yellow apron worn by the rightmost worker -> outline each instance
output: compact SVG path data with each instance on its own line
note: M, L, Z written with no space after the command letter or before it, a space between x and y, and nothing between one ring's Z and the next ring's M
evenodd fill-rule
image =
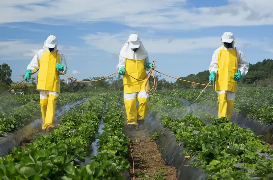
M230 91L237 92L237 82L233 80L236 73L236 65L238 53L236 48L233 50L220 50L218 54L218 71L215 81L216 91Z

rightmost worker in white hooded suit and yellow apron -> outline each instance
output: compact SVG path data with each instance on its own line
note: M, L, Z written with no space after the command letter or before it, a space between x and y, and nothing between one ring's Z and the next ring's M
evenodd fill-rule
M249 63L241 50L234 46L233 33L225 32L221 41L223 46L214 51L209 66L209 81L215 82L218 94L218 118L226 117L231 121L237 92L237 81L248 72Z

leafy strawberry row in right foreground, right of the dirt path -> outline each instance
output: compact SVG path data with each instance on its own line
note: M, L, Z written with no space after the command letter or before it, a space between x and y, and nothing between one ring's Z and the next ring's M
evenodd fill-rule
M161 111L159 107L165 99L169 106L179 107ZM187 148L185 158L197 157L191 165L207 172L207 179L271 179L273 150L251 130L230 123L226 118L214 118L202 110L196 112L202 118L186 114L182 104L172 103L158 94L150 100L149 107L155 110L154 115L173 131L176 141Z

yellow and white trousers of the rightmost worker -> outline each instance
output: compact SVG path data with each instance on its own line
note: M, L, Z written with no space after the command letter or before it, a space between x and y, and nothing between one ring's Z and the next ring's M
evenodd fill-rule
M235 93L230 91L218 91L218 118L226 117L231 121Z

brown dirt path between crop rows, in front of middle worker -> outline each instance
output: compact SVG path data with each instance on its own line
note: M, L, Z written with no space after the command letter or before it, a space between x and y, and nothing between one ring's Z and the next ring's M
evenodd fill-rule
M175 180L176 169L166 166L155 142L145 130L126 131L130 136L134 157L135 179L137 180ZM130 177L133 179L132 158L130 158Z

